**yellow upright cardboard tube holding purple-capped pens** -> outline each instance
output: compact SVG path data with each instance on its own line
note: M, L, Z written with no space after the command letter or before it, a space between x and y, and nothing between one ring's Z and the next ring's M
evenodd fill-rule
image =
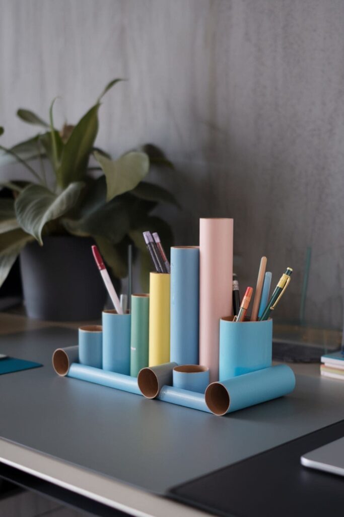
M170 360L170 277L150 273L149 366Z

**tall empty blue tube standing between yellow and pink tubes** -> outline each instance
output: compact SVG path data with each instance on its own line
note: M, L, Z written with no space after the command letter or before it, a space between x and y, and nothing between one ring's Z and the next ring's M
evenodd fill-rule
M199 362L200 250L171 248L170 361Z

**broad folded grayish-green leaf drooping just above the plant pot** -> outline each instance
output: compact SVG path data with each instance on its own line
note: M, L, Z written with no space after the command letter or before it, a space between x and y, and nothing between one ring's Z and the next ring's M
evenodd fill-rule
M84 183L71 183L59 195L43 185L29 185L14 203L15 214L22 229L33 235L42 245L42 229L46 222L56 219L76 203Z

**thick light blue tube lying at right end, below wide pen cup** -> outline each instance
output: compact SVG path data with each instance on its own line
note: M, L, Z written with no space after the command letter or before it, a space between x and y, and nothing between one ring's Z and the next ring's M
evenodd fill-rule
M283 397L295 387L295 376L286 364L246 373L209 384L205 402L212 413L221 416L238 409Z

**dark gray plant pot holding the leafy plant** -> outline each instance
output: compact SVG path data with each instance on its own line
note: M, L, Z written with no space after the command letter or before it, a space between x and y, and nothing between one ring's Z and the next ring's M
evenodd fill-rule
M101 317L106 300L102 277L93 260L92 239L49 236L32 242L20 255L27 314L53 321Z

